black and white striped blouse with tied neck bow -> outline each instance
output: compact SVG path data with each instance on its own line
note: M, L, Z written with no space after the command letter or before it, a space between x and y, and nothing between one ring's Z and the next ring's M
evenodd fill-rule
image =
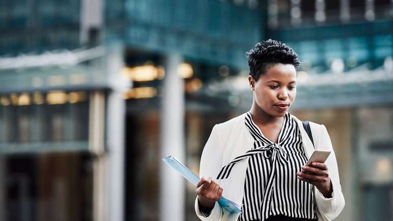
M237 162L248 158L239 220L263 221L276 215L315 219L312 185L296 175L307 162L296 121L288 112L284 115L278 143L261 133L250 112L246 115L245 127L254 139L253 146L224 166L217 176L217 179L228 177Z

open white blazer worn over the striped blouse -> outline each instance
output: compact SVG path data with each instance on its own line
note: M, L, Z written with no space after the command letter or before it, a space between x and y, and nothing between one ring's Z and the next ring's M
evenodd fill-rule
M247 170L247 161L240 161L233 167L227 179L216 180L216 176L223 166L232 161L235 157L250 150L254 142L251 135L246 130L244 120L246 113L216 124L202 152L200 177L212 177L222 188L222 195L239 205L242 204L244 194L244 180ZM292 115L292 117L294 117ZM314 146L303 128L302 121L294 117L297 121L302 136L303 147L309 158L314 151ZM318 220L332 220L343 210L345 205L344 196L341 192L339 172L337 168L336 155L328 131L322 124L310 122L310 129L315 144L315 149L332 151L325 164L329 170L329 177L333 185L332 198L325 198L314 186L314 197ZM198 197L195 199L195 212L201 220L209 221L236 221L240 214L229 213L222 209L216 202L208 217L202 215L198 206Z

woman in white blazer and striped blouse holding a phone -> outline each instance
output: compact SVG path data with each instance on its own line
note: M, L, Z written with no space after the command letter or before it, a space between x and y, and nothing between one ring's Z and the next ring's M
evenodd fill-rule
M336 218L345 201L329 134L310 122L312 143L302 121L288 112L296 97L298 55L274 40L247 55L251 110L213 127L201 157L196 214L230 221ZM331 154L325 163L304 166L314 149ZM242 205L242 213L222 209L222 195Z

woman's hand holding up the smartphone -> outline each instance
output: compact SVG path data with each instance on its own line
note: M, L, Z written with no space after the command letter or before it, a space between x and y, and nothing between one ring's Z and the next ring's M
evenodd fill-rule
M297 172L296 175L298 179L317 187L324 197L332 197L333 186L325 164L314 162L310 166L302 166L302 172Z

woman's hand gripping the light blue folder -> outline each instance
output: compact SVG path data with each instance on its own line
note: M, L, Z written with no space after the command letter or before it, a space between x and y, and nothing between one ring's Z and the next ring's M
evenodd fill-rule
M215 202L222 196L222 188L211 177L202 177L196 184L195 193L199 204L206 210L212 210Z

